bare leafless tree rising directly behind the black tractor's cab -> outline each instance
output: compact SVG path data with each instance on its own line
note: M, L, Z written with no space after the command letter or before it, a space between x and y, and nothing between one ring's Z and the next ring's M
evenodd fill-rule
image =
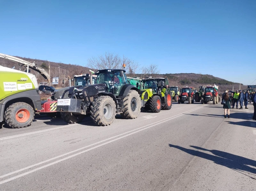
M118 54L105 52L104 55L88 59L88 67L92 69L121 69L121 58Z

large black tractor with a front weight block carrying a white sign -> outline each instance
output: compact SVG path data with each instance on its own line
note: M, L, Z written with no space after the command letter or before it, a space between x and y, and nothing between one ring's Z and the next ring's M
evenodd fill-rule
M125 70L98 70L95 74L96 84L71 87L58 99L57 111L62 119L76 123L90 114L94 123L105 126L114 121L116 113L125 119L137 118L141 108L140 90L128 84Z

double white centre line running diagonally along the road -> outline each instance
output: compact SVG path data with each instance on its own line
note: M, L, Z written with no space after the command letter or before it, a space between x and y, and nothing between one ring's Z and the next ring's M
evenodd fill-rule
M157 121L157 122L154 122L154 123L145 125L145 126L143 126L143 127L140 127L140 128L137 128L137 129L133 129L133 130L131 130L131 131L127 131L127 132L122 133L122 134L119 134L119 135L117 135L117 136L113 136L113 137L110 137L110 138L108 138L108 139L99 141L99 142L97 142L97 143L93 143L93 144L87 145L87 146L82 147L82 148L80 148L80 149L76 149L76 150L74 150L74 151L70 151L70 152L68 152L68 153L59 155L59 156L54 157L54 158L50 158L50 159L48 159L48 160L42 161L42 162L37 163L37 164L34 164L34 165L30 165L30 166L28 166L28 167L19 169L19 170L17 170L17 171L13 171L13 172L11 172L11 173L4 174L4 175L0 176L0 178L4 178L4 177L9 176L9 175L11 175L11 174L18 173L18 172L24 171L24 170L26 170L26 169L32 168L32 167L34 167L34 166L44 164L44 163L49 162L49 161L51 161L51 160L54 160L54 159L57 159L57 158L66 156L66 155L71 154L71 153L73 153L73 152L83 150L83 149L85 149L85 148L91 147L91 146L93 146L93 145L96 145L96 144L99 144L99 143L108 141L108 140L110 140L110 139L113 139L113 138L116 138L116 137L119 136L119 137L116 138L116 139L113 139L113 140L110 140L110 141L108 141L108 142L99 144L99 145L94 146L94 147L92 147L92 148L90 148L90 149L86 149L86 150L84 150L84 151L78 152L78 153L76 153L76 154L70 155L70 156L65 157L65 158L62 158L62 159L59 159L59 160L54 161L54 162L52 162L52 163L49 163L49 164L47 164L47 165L44 165L44 166L35 168L35 169L33 169L33 170L31 170L31 171L28 171L28 172L26 172L26 173L22 173L22 174L19 174L19 175L17 175L17 176L14 176L14 177L12 177L12 178L3 180L3 181L0 182L0 184L4 184L4 183L6 183L6 182L9 182L9 181L11 181L11 180L20 178L20 177L22 177L22 176L25 176L25 175L27 175L27 174L33 173L33 172L38 171L38 170L40 170L40 169L43 169L43 168L46 168L46 167L48 167L48 166L57 164L57 163L59 163L59 162L61 162L61 161L64 161L64 160L67 160L67 159L69 159L69 158L75 157L75 156L77 156L77 155L83 154L83 153L85 153L85 152L91 151L91 150L93 150L93 149L96 149L96 148L101 147L101 146L103 146L103 145L106 145L106 144L108 144L108 143L112 143L112 142L114 142L114 141L117 141L117 140L122 139L122 138L124 138L124 137L133 135L133 134L135 134L135 133L138 133L138 132L140 132L140 131L146 130L146 129L148 129L148 128L154 127L154 126L159 125L159 124L161 124L161 123L164 123L164 122L166 122L166 121L170 121L170 120L172 120L172 119L175 119L175 118L180 117L180 116L182 116L182 115L188 114L188 113L193 112L193 111L195 111L195 110L197 110L197 109L200 109L200 108L202 108L202 107L204 107L204 106L197 107L197 108L195 108L195 109L191 109L191 110L189 110L189 111L187 111L187 112L174 115L174 116L172 116L172 117L169 117L169 118L166 118L166 119L163 119L163 120L160 120L160 121ZM147 126L148 126L148 127L147 127ZM146 128L145 128L145 127L146 127ZM134 131L134 132L132 132L132 131ZM131 133L131 132L132 132L132 133ZM129 133L129 134L127 134L127 133ZM125 135L125 134L127 134L127 135ZM122 135L124 135L124 136L122 136ZM121 136L121 137L120 137L120 136Z

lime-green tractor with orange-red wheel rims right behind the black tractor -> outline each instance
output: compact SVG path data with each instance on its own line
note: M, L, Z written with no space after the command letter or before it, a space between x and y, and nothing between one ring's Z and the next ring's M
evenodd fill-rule
M154 113L172 108L172 92L168 78L142 79L143 89L140 91L142 107Z

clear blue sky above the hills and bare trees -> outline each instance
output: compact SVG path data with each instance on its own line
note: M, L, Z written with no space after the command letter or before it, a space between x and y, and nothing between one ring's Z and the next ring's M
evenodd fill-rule
M0 52L84 65L105 51L161 73L256 78L256 1L4 1ZM254 82L255 83L255 82Z

